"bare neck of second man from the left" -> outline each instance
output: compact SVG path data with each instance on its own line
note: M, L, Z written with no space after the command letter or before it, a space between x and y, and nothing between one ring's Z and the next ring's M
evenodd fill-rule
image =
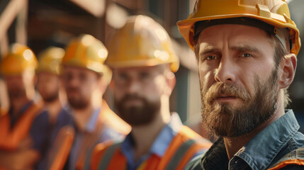
M62 103L60 102L60 99L57 98L54 101L44 101L45 108L47 108L47 112L50 116L50 123L54 124L57 120L57 115L60 113L62 109Z

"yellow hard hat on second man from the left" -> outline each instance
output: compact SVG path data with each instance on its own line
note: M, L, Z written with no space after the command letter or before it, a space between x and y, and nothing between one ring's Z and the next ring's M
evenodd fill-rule
M38 55L39 66L37 72L50 72L60 74L60 62L64 56L64 50L60 47L48 47Z

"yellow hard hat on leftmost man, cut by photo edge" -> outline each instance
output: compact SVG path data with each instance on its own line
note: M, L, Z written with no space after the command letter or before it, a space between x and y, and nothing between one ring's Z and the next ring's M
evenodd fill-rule
M27 69L35 70L37 65L35 53L29 47L14 43L1 60L0 70L2 75L19 75Z

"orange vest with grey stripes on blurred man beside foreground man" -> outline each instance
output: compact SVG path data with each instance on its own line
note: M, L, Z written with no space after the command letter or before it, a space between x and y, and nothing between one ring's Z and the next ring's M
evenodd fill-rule
M91 169L127 169L127 160L121 152L120 145L121 142L113 145L98 144L92 155ZM199 150L208 149L211 145L211 142L183 126L171 140L162 158L152 154L137 169L183 169Z

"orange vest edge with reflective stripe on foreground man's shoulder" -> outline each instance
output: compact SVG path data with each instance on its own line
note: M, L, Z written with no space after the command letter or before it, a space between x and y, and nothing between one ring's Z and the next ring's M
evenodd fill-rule
M298 149L289 152L284 157L282 157L276 164L271 166L268 170L276 170L281 169L287 165L300 165L303 166L304 169L304 148L300 147Z

